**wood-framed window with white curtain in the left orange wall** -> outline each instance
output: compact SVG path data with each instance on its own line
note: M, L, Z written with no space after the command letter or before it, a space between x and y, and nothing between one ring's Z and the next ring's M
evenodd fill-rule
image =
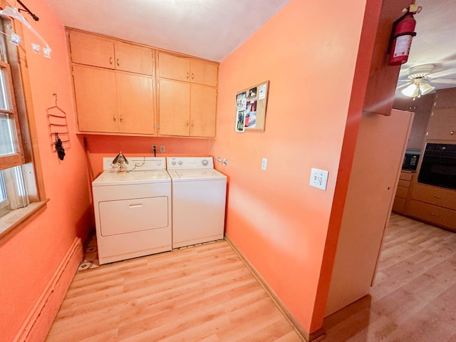
M34 124L26 110L28 105L33 109L28 103L28 71L26 63L19 63L26 61L26 53L9 42L14 31L23 36L23 28L13 25L0 19L0 244L46 207L42 180L36 177L33 163L38 151L30 143L36 133L28 130Z

